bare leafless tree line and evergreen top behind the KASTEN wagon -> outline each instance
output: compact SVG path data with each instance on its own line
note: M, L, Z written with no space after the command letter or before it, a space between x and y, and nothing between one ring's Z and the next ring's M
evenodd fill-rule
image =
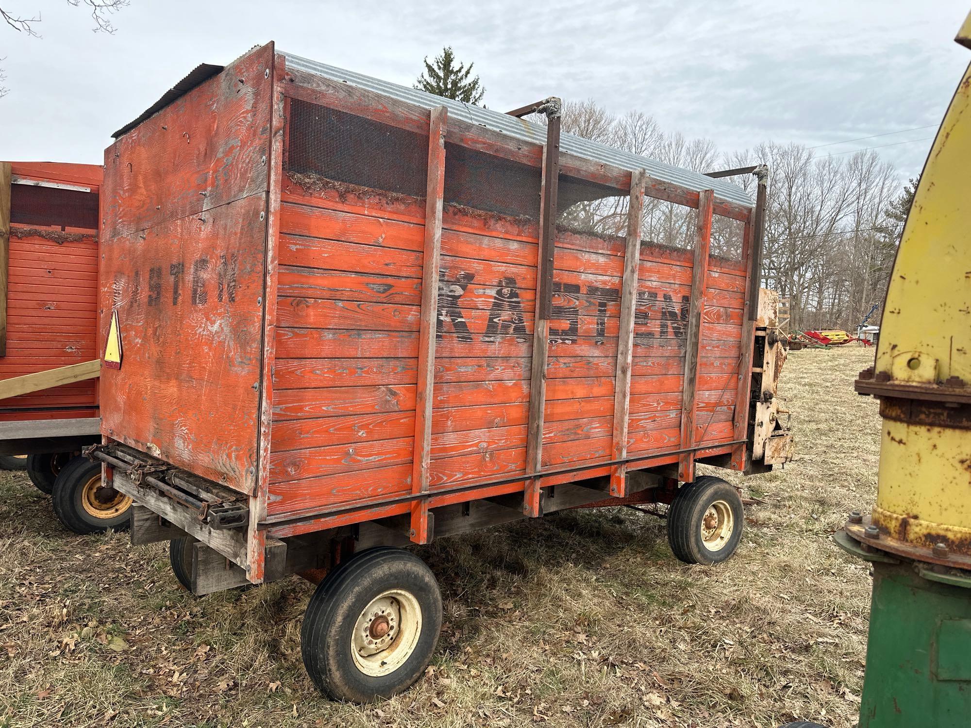
M429 63L416 87L467 103L481 103L485 88L472 77L472 64L455 60L451 48ZM664 132L653 116L609 113L593 101L566 101L562 129L594 142L643 154L696 172L766 164L768 204L761 284L788 299L790 329L855 326L870 314L879 323L884 294L916 181L903 185L897 170L872 150L849 156L819 154L797 144L767 142L722 153L707 139ZM545 122L544 116L535 120ZM752 177L729 178L754 195ZM600 192L602 194L602 191ZM595 195L591 195L595 197ZM622 235L627 200L622 194L571 204L557 223L575 229ZM694 211L648 199L642 229L661 245L691 247ZM715 254L741 254L742 226L717 217Z

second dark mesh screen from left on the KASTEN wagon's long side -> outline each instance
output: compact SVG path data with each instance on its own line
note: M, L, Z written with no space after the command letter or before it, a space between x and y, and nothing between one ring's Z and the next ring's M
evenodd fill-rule
M445 144L446 205L538 219L542 181L539 167Z

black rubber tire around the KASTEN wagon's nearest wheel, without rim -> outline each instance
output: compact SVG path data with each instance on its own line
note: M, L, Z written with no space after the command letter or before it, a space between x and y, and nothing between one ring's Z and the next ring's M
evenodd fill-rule
M409 591L419 603L421 630L415 650L385 676L366 675L352 657L357 617L385 590ZM304 614L300 649L318 690L334 699L368 703L411 687L431 661L442 630L442 593L418 556L382 546L354 554L323 579Z

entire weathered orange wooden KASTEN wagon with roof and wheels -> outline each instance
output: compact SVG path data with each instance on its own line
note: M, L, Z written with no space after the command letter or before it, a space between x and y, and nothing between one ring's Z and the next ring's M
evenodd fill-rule
M115 136L89 454L195 593L326 573L303 653L331 696L430 659L441 595L400 546L667 503L675 554L717 563L742 502L696 464L788 457L762 168L705 177L560 136L556 99L503 115L273 44ZM642 239L669 203L686 224Z

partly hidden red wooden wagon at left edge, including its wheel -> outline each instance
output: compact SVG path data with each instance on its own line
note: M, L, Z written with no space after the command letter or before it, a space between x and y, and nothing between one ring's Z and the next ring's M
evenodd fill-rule
M101 181L100 165L0 162L0 455L79 533L126 525L130 505L99 473L70 478L101 439Z

